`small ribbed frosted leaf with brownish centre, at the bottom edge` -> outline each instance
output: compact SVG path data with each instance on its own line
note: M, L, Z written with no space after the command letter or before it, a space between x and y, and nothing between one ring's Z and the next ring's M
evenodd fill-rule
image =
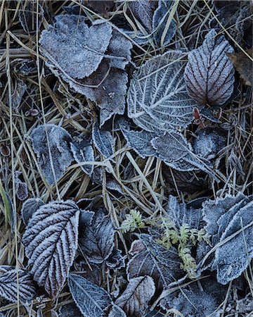
M131 278L123 294L115 304L121 307L127 316L143 316L148 302L155 294L155 283L150 276Z

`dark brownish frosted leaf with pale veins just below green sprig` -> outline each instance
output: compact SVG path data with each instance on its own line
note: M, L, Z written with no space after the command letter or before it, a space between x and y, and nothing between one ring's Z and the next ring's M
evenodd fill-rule
M154 247L156 243L151 239L150 235L138 235L138 248L134 257L129 261L127 273L129 278L150 275L159 288L167 288L171 282L174 282L181 275L181 261L174 247L167 249L166 254L164 248ZM136 245L136 242L133 242ZM131 247L133 249L133 245ZM165 259L164 265L159 259Z

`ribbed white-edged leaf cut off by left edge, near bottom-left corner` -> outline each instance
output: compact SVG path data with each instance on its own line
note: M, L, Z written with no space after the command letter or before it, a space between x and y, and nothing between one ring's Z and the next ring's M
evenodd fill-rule
M18 281L17 281L18 276ZM18 282L18 284L17 284ZM32 275L13 266L0 267L0 296L10 302L17 302L17 292L22 303L30 302L36 297L37 287Z

